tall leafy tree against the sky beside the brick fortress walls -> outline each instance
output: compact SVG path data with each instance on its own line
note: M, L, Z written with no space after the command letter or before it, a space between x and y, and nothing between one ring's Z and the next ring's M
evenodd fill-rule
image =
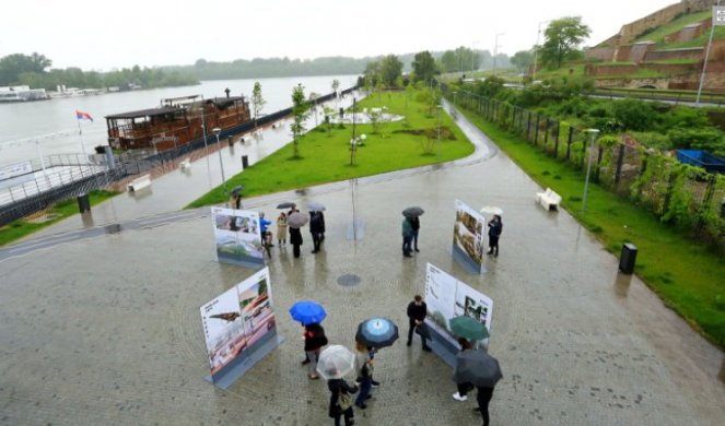
M543 63L561 68L562 62L578 51L578 45L592 31L582 23L582 16L565 16L551 21L543 32L546 42L539 50Z

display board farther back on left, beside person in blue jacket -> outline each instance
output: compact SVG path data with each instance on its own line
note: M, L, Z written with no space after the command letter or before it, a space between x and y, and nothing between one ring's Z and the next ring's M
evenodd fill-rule
M265 264L257 212L212 208L211 218L218 261L255 269Z

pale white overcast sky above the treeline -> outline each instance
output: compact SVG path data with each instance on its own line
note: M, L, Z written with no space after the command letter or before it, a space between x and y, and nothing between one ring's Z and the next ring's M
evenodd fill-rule
M323 56L361 58L458 46L513 55L539 22L582 16L596 45L678 0L12 0L0 57L34 51L83 70ZM542 24L541 27L546 27ZM542 40L543 38L541 38Z

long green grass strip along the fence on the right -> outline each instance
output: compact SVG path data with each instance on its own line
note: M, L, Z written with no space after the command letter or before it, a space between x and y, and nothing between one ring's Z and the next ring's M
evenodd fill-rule
M664 304L709 340L725 347L725 262L715 250L688 238L654 215L596 185L582 214L584 174L554 161L524 139L465 113L533 179L561 194L562 205L612 253L622 244L638 249L635 272Z

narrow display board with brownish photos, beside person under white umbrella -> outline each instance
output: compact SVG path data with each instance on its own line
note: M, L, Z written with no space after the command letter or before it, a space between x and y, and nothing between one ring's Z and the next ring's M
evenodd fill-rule
M483 270L486 218L460 200L456 200L453 225L453 257L471 272Z

